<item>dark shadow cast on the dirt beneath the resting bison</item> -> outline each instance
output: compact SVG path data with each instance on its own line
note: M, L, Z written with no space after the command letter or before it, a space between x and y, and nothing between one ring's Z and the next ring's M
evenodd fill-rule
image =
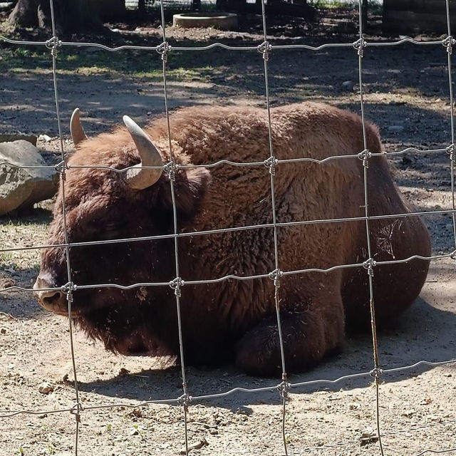
M442 296L443 297L443 296ZM446 299L442 299L442 301ZM447 361L454 357L456 315L452 311L431 306L418 299L412 308L388 328L378 331L378 354L383 369L381 380L395 383L430 370L432 366L415 366L389 373L389 369L412 366L417 361ZM316 390L360 388L373 381L373 343L369 333L349 333L343 351L326 358L316 368L302 374L289 375L291 393L311 393ZM362 374L355 378L346 375ZM257 378L237 371L232 366L217 368L186 368L187 388L193 403L206 403L231 410L250 412L249 404L280 403L279 378ZM336 380L318 383L316 380ZM108 380L81 383L81 390L113 398L135 401L173 400L182 395L180 366L152 369L118 375ZM246 388L246 390L236 388ZM232 393L224 394L234 390ZM257 390L255 392L248 390ZM214 395L214 398L199 396Z

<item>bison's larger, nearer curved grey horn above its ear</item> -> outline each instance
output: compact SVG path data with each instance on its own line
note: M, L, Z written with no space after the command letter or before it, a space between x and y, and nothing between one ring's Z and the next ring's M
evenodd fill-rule
M128 185L135 190L143 190L151 185L154 185L163 172L162 168L153 170L150 168L145 169L143 167L162 167L162 156L144 130L131 120L128 115L123 116L123 123L125 123L125 126L128 128L128 131L130 132L141 157L140 164L127 171Z

